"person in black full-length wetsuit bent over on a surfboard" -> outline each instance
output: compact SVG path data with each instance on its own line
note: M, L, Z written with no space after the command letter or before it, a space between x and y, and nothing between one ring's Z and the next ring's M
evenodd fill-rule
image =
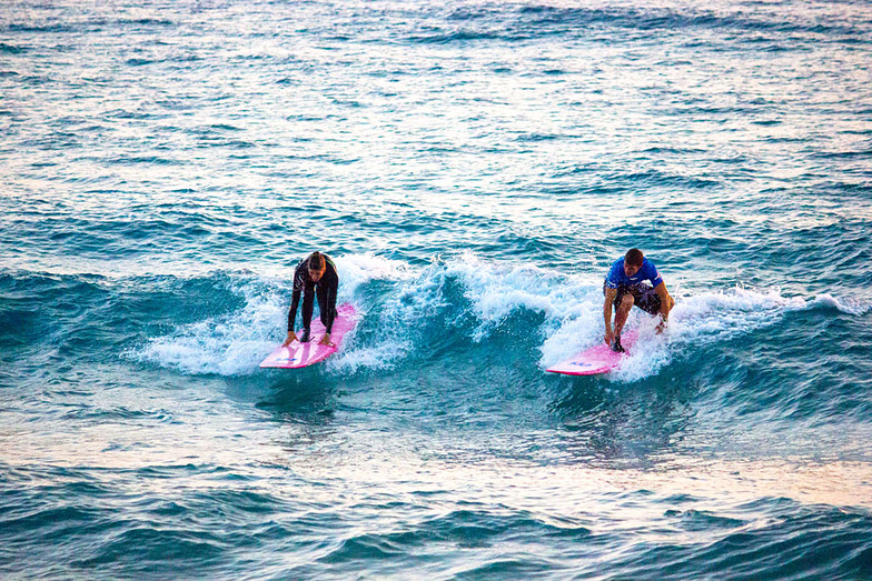
M318 310L320 311L321 322L327 332L321 338L321 344L330 344L330 331L333 321L336 319L336 293L339 290L339 277L336 274L336 264L330 257L320 252L313 252L308 258L300 260L294 271L294 293L290 298L290 311L288 312L288 338L284 345L287 347L291 341L298 340L301 343L308 342L310 338L311 312L314 299L318 298ZM297 320L297 305L299 304L300 293L303 293L303 332L297 338L294 332L294 323Z

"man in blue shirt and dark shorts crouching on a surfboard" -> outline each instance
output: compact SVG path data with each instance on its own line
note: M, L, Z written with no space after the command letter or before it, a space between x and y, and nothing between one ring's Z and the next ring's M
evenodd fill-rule
M661 317L657 332L663 331L670 317L670 311L675 305L675 300L670 297L663 278L657 268L646 259L642 251L634 248L617 259L608 269L605 283L605 342L613 351L623 352L621 347L621 331L624 330L630 310L635 304L643 311ZM612 308L615 308L615 327L612 328Z

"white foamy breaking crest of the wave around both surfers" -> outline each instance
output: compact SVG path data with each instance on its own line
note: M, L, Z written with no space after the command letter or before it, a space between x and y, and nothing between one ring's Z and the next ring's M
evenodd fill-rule
M603 293L598 277L565 276L524 263L484 261L458 254L415 269L358 254L338 257L340 301L364 314L343 350L325 369L355 373L389 370L409 357L462 343L485 347L499 337L538 338L538 365L547 368L602 341ZM290 269L285 269L289 277ZM276 276L280 271L276 270ZM592 280L593 278L593 280ZM284 337L290 301L285 278L238 280L231 291L241 308L155 337L127 354L192 374L250 374ZM726 291L676 293L666 332L657 320L634 310L628 328L641 331L636 350L608 377L637 381L660 372L675 358L706 345L770 328L792 311L836 309L860 315L870 304L823 293L785 297L777 289L735 287Z

